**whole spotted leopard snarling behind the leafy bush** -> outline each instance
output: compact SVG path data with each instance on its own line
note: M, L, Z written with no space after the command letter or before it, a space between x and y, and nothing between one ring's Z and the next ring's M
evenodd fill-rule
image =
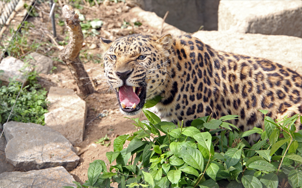
M158 95L150 111L176 125L232 114L239 118L231 123L245 132L263 128L259 109L273 119L302 113L302 76L264 58L215 50L188 34L101 38L101 49L104 74L125 115L140 113ZM298 120L295 125L302 129ZM253 143L259 135L247 139Z

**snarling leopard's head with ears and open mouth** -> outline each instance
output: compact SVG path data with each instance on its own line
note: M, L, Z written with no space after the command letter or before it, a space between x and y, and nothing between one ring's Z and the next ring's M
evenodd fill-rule
M101 39L105 76L124 114L138 114L146 100L164 91L172 42L169 34Z

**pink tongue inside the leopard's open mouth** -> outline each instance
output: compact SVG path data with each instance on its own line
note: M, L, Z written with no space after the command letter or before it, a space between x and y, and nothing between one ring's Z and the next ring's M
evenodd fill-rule
M126 107L136 105L140 102L139 96L133 92L132 86L122 86L118 92L119 101Z

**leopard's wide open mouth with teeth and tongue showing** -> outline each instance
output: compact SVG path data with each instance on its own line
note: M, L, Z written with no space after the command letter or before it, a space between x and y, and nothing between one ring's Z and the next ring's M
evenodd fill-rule
M144 87L124 85L116 88L115 91L119 106L124 112L136 112L143 108L146 100L146 89Z

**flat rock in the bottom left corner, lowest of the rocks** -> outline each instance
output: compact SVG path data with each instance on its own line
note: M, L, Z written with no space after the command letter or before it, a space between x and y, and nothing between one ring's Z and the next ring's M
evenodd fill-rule
M63 167L28 172L4 172L0 174L0 188L62 188L76 187L73 177Z

